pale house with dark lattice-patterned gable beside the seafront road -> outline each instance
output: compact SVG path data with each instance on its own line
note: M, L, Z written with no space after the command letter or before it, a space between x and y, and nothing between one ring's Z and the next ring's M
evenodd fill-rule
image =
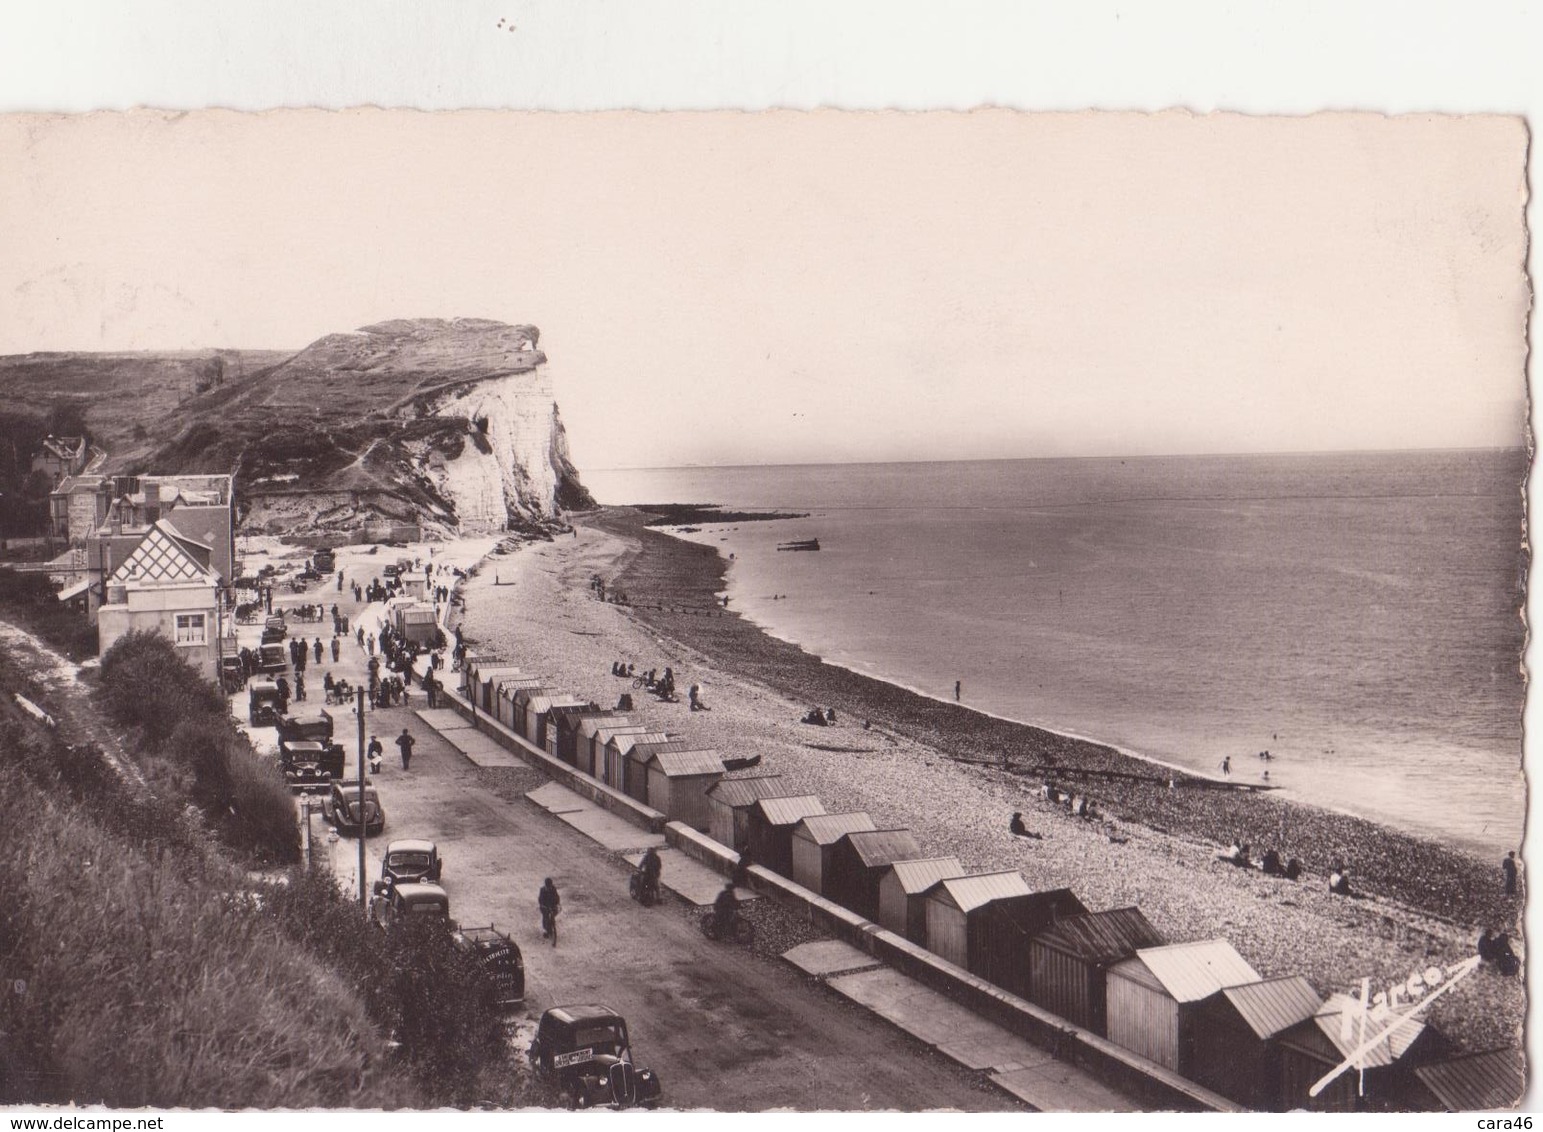
M219 675L219 574L213 547L157 520L106 577L97 631L106 652L123 635L159 632L194 669Z

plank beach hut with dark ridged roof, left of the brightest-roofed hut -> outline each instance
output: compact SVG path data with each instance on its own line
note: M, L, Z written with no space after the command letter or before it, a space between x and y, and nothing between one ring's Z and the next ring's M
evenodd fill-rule
M1108 1035L1103 990L1109 967L1165 942L1140 908L1062 919L1029 941L1026 998L1085 1030Z

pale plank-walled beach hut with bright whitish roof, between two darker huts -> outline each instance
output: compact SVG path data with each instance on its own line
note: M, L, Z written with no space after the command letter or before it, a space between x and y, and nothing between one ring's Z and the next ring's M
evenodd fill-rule
M1258 981L1225 939L1143 947L1109 967L1109 1041L1185 1073L1197 1006L1224 987Z

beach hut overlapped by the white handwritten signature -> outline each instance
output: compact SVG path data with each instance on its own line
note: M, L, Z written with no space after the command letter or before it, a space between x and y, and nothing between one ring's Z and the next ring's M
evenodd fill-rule
M1276 1038L1282 1107L1312 1112L1401 1112L1429 1103L1423 1101L1429 1093L1415 1070L1446 1056L1450 1049L1435 1029L1415 1019L1400 1023L1366 1052L1364 1095L1359 1092L1362 1073L1350 1069L1330 1081L1318 1097L1308 1097L1316 1081L1344 1064L1362 1044L1356 1036L1359 1015L1355 998L1335 993L1316 1015ZM1383 1024L1375 1026L1381 1029Z

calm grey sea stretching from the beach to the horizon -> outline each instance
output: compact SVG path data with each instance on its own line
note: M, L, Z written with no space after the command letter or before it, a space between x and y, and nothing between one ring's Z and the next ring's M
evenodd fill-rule
M585 483L807 512L674 532L730 560L731 608L827 663L1497 856L1526 817L1526 472L1506 449Z

